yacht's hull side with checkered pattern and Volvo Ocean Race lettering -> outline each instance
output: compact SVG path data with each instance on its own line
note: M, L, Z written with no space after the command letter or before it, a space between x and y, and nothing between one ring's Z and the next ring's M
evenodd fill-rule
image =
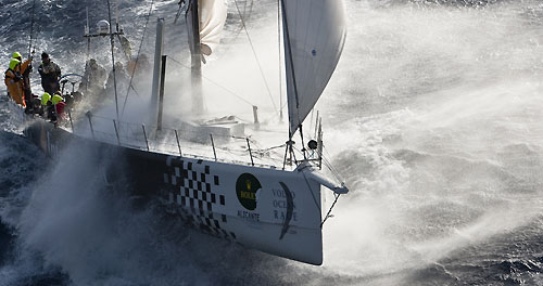
M293 171L173 156L93 141L33 120L25 134L52 157L63 145L117 150L135 193L159 197L166 211L202 232L305 263L323 263L321 194L311 167Z

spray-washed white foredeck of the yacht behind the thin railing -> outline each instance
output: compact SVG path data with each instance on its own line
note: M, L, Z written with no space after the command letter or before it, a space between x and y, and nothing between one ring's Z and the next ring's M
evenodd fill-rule
M260 128L242 122L197 125L177 122L177 128L117 121L97 115L60 128L75 135L135 150L223 162L282 169L286 140L279 128ZM241 131L240 131L241 129ZM264 144L262 142L266 142ZM293 169L286 166L286 169Z

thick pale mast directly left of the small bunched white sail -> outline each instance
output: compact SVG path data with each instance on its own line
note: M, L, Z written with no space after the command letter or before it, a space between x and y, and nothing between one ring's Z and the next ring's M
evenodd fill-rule
M198 0L191 0L190 8L192 21L192 49L191 51L191 83L192 83L192 112L197 115L203 113L202 96L202 51L200 42L200 16Z

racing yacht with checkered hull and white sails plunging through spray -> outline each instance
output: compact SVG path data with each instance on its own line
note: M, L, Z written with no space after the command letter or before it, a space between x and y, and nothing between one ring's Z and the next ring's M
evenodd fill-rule
M344 6L342 0L280 0L280 8L289 117L282 166L256 161L249 139L243 156L251 162L217 157L218 138L241 138L245 143L239 122L162 126L166 57L162 54L164 23L160 21L152 87L156 126L123 122L117 105L116 118L86 113L80 118L71 116L65 127L33 120L24 133L52 157L68 142L96 145L102 156L115 154L123 159L123 172L135 193L157 197L166 211L189 225L249 248L320 265L323 223L329 217L321 203L321 186L329 188L336 199L348 188L320 172L320 127L315 139L310 140L304 138L303 125L340 58L346 35ZM187 0L184 9L189 27L192 104L193 109L203 112L198 94L202 60L219 42L226 6L224 0ZM114 34L111 27L108 35L112 43ZM211 145L205 154L187 152L201 143Z

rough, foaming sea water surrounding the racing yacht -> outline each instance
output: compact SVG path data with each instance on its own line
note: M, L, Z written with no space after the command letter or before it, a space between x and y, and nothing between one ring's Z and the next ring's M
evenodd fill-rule
M274 23L274 2L263 3L248 21L255 39ZM136 43L148 4L119 3ZM27 49L17 28L28 26L31 1L2 5L9 58ZM81 73L85 8L99 18L105 6L39 5L38 50ZM543 285L543 5L348 0L346 8L343 56L317 109L325 154L351 192L325 224L323 266L186 230L105 183L100 168L112 159L92 151L68 148L51 162L10 123L3 98L0 285ZM173 22L176 9L161 2L154 17ZM227 25L232 44L243 37L237 25ZM166 50L182 57L172 47L186 47L185 31L167 32ZM108 53L93 56L105 63ZM276 74L266 72L270 81Z

